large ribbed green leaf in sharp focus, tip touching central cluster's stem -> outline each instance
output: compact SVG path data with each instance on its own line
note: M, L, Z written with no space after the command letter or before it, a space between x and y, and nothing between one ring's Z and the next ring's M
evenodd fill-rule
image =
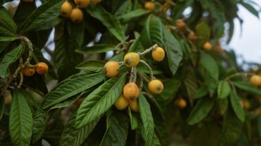
M87 125L109 110L122 94L125 82L126 73L112 77L97 89L93 90L80 105L75 126L80 128Z

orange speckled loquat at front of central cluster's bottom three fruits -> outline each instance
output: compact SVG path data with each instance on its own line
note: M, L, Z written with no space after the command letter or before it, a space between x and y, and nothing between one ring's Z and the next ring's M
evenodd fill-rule
M126 99L137 99L139 97L139 87L135 83L129 82L124 86L123 94Z

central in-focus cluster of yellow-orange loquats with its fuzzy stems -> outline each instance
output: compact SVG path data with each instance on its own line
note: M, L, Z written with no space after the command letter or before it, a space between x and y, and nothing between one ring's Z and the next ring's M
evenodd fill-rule
M135 83L136 79L133 78L133 76L137 76L136 66L139 63L145 64L150 69L150 81L148 81L148 90L150 90L150 93L160 94L162 92L162 82L155 79L150 66L144 60L141 60L141 58L143 58L144 55L150 51L152 51L152 58L157 62L161 62L165 57L164 49L157 47L157 45L150 47L150 49L147 49L143 53L129 52L124 56L124 61L122 63L124 63L126 67L131 68L131 77L130 81L123 88L123 94L120 95L114 104L118 110L124 110L127 106L129 106L131 110L139 112L137 98L139 97L139 88L142 88L142 85L137 86ZM120 71L118 70L120 68L120 63L121 62L115 61L106 62L104 65L104 72L106 73L106 76L115 77L119 75Z

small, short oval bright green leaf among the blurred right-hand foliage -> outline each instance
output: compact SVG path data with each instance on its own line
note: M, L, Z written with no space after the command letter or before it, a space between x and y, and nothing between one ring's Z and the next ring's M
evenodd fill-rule
M230 94L231 88L227 81L220 81L218 84L218 98L225 99Z

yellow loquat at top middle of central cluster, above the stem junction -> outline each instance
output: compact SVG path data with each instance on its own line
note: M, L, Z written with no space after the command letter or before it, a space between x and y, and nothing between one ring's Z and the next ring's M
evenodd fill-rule
M123 61L124 61L124 64L127 67L137 66L137 64L139 64L139 54L134 53L134 52L127 53L124 56L124 60Z

